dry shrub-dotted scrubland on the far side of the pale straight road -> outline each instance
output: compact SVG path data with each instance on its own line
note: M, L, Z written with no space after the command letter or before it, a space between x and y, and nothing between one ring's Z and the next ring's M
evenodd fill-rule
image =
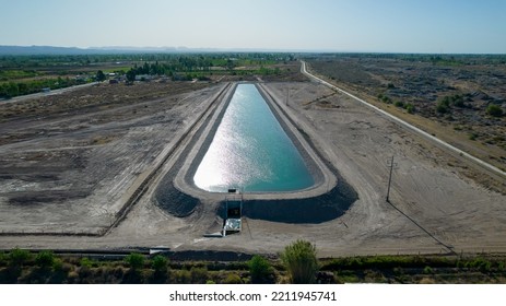
M310 60L310 67L374 105L506 170L504 57L343 55ZM490 108L502 109L503 116L492 116ZM461 167L459 172L467 170ZM474 169L467 176L496 191L506 190L504 184Z

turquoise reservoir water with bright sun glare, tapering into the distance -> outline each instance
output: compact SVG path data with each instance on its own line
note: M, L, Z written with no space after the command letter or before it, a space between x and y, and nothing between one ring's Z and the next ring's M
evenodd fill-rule
M239 84L193 181L226 192L283 192L311 187L304 158L254 84Z

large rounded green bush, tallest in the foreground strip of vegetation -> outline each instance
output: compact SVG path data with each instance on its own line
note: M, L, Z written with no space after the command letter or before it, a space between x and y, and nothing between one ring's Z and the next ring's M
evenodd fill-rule
M316 247L309 242L297 239L286 246L281 254L281 260L294 284L310 284L315 282L318 271Z

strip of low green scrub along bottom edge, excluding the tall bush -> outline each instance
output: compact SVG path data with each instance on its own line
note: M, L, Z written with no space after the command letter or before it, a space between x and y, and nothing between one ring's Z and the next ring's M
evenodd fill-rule
M317 283L506 283L496 256L369 256L320 259ZM252 281L254 280L254 281ZM130 254L106 260L12 249L0 252L0 283L290 283L280 259L179 261Z

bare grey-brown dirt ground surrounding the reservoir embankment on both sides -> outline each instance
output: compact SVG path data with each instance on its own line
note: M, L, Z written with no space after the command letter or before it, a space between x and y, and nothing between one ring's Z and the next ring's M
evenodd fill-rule
M202 199L189 216L176 217L158 208L153 195L188 142L175 144L185 132L193 134L193 123L203 123L199 116L224 87L215 84L111 109L2 123L2 136L30 137L0 146L0 248L164 246L276 254L303 238L316 244L321 257L506 251L506 196L452 167L466 161L310 82L264 87L356 190L358 200L332 221L293 224L246 217L240 234L204 237L221 222L211 199ZM102 233L121 210L126 195L172 148L175 151L148 190L106 235L22 235Z

